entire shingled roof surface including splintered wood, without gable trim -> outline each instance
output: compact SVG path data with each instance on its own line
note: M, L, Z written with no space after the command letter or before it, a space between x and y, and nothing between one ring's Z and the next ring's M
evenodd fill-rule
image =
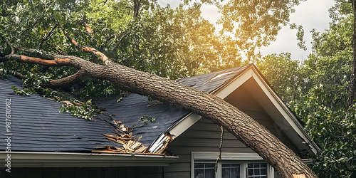
M246 67L182 78L177 82L211 93ZM0 83L0 100L11 99L11 133L14 135L11 151L14 152L164 155L173 140L169 127L190 113L132 93L118 103L118 98L95 100L95 105L108 112L90 121L58 112L62 103L54 100L38 95L15 95L11 86L21 89L22 81L18 78L0 78ZM0 103L1 117L5 117L4 108L5 103ZM140 120L142 117L152 117L155 121L145 123ZM0 127L0 132L4 135L6 127ZM6 148L5 143L0 142L0 146Z

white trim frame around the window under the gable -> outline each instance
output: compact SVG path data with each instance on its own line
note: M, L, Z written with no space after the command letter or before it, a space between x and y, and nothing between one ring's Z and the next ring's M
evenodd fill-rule
M192 152L191 177L194 178L194 163L215 163L219 153L217 152ZM216 178L221 178L221 163L241 164L241 178L247 177L246 168L249 163L266 163L257 153L230 153L222 152L221 161L218 163L219 169ZM267 177L274 178L274 169L267 163Z

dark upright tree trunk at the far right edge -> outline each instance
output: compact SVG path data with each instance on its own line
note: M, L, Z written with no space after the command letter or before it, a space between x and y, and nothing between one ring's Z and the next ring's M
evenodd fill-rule
M354 13L354 28L352 35L352 47L353 47L353 62L352 62L352 73L350 77L350 84L348 90L348 98L346 102L346 107L349 108L356 100L356 2L355 0L350 0L352 4L352 9Z

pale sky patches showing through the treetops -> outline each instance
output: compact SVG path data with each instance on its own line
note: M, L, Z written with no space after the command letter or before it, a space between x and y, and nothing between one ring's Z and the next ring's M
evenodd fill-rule
M177 0L159 0L161 6L171 4L171 7L176 7L181 1ZM304 61L311 53L311 33L313 28L316 31L323 32L329 28L331 21L329 17L329 9L335 4L333 0L308 0L301 1L299 6L295 6L295 13L290 14L290 23L296 23L304 27L304 40L307 51L300 49L297 46L296 30L290 30L288 26L283 26L281 31L276 36L276 41L272 41L269 46L262 47L260 52L263 56L272 53L291 53L293 60ZM201 6L201 16L216 24L220 14L214 5ZM216 26L219 28L219 26Z

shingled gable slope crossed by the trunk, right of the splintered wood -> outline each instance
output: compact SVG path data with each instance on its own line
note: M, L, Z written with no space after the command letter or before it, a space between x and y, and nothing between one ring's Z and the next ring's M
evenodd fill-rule
M225 83L229 83L236 75L239 75L248 66L221 70L204 75L196 75L190 78L176 80L184 85L197 88L206 93L211 93L216 88ZM223 74L223 75L221 75ZM157 100L149 100L146 96L131 93L117 103L118 98L111 100L96 100L95 104L106 108L110 114L113 114L115 120L120 120L127 127L133 127L132 133L136 137L141 137L140 142L145 145L152 143L167 131L175 122L181 120L190 113L189 110L178 108L174 105L161 103ZM155 122L148 122L147 125L140 122L143 116L155 118Z

